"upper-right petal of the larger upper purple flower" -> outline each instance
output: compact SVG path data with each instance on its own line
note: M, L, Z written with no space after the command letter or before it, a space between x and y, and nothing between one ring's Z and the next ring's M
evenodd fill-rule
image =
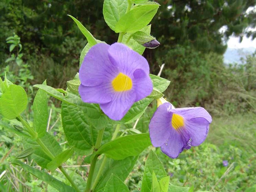
M131 77L136 69L142 69L149 74L147 60L124 44L114 43L108 51L111 63L123 74Z

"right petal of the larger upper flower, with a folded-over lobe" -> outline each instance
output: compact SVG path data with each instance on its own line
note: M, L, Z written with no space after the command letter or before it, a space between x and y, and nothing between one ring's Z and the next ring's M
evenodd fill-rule
M136 90L136 102L150 95L153 90L153 83L151 78L142 69L136 69L133 72L133 77L133 89Z

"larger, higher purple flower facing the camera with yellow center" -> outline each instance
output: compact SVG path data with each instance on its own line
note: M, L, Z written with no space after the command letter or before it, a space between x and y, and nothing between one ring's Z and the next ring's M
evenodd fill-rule
M116 121L153 90L147 60L121 43L91 47L79 78L82 100L99 103L102 111Z

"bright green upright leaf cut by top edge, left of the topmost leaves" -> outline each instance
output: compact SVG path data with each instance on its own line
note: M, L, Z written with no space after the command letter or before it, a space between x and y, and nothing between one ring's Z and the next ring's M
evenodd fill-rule
M124 0L104 0L103 16L110 29L115 31L115 25L126 13L128 1Z

